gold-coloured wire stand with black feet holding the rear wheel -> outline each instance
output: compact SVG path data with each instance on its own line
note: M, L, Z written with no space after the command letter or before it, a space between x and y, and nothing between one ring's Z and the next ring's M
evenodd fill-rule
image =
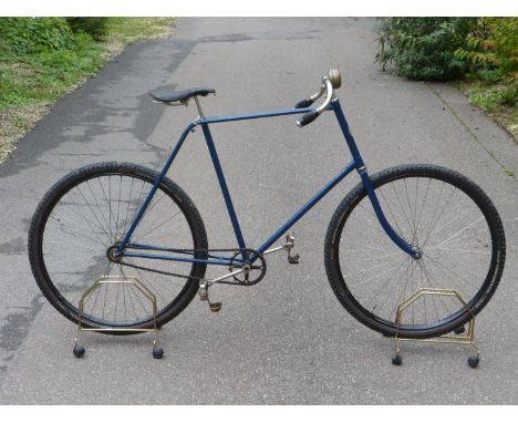
M153 306L153 329L126 329L126 328L83 328L83 312L84 312L84 305L86 300L92 296L92 293L99 289L102 285L106 283L126 283L132 285L141 293L146 297ZM94 332L154 332L153 337L153 357L155 359L162 359L164 355L164 349L162 347L157 347L156 339L158 334L158 328L156 326L156 313L157 313L157 305L156 305L156 297L155 295L138 279L136 278L127 278L123 276L103 276L97 279L82 296L79 301L79 322L77 322L77 332L74 339L74 349L73 353L75 357L81 358L84 355L85 349L83 345L79 344L79 337L81 332L86 331L94 331Z

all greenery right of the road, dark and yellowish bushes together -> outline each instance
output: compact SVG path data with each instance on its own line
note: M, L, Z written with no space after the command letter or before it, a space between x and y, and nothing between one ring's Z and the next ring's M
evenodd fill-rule
M518 18L382 18L376 62L459 86L518 138Z

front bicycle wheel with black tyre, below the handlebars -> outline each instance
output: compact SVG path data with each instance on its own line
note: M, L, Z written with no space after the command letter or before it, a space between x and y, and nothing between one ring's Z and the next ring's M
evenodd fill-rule
M397 334L437 337L462 327L489 301L500 280L506 241L487 195L450 169L405 165L371 177L391 226L422 251L414 259L384 233L359 184L339 205L328 228L324 260L331 287L359 321L396 333L396 310L421 288L455 290L423 296L402 313Z

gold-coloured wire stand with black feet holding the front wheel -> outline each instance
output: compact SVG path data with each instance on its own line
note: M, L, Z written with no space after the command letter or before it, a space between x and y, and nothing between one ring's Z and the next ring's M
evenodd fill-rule
M448 336L442 336L437 338L427 338L427 339L408 339L408 338L398 337L400 326L402 321L401 317L402 317L403 311L423 296L453 297L453 298L456 298L464 307L467 308L467 305L463 300L463 298L458 295L457 291L453 289L422 288L415 291L412 296L406 298L402 303L397 306L396 321L395 321L396 333L394 336L396 353L392 357L392 363L395 365L401 365L403 363L403 360L401 357L400 341L418 341L418 342L435 342L435 343L456 343L456 344L465 344L465 345L473 347L476 351L476 355L472 355L468 358L468 364L470 368L476 368L480 361L480 351L478 350L478 347L475 343L475 314L469 308L468 308L468 311L472 314L472 319L468 322L467 333L465 336L460 334L463 331L455 331L455 333L458 333L458 334L456 336L448 334Z

